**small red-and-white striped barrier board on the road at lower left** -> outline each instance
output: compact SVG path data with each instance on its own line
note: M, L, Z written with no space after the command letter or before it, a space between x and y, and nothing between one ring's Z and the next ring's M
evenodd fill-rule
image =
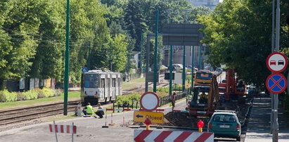
M76 126L49 124L50 132L76 134Z

